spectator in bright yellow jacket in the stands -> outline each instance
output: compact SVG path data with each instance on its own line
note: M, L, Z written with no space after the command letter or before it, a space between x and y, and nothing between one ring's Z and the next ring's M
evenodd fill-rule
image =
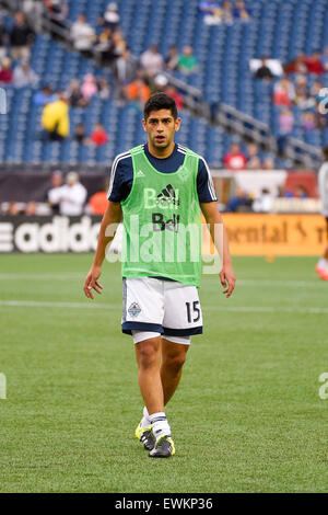
M68 98L59 93L57 101L46 104L42 114L45 135L52 141L62 141L70 133Z

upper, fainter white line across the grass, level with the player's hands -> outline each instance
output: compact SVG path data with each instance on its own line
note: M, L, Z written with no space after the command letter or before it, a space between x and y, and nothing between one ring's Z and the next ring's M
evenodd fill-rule
M61 273L61 274L0 274L0 281L83 281L86 274L83 273ZM219 283L218 283L219 284ZM308 279L308 281L294 281L294 279L238 279L237 278L237 286L290 286L294 288L302 288L302 287L315 287L317 288L318 285L327 285L328 282L323 282L317 278Z

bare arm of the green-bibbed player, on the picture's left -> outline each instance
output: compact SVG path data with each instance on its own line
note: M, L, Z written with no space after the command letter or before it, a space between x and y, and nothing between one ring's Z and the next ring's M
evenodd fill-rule
M106 255L106 248L115 236L115 230L110 230L110 226L115 225L117 227L117 225L121 221L121 218L122 213L120 203L108 201L108 205L101 224L97 249L83 287L85 296L90 299L94 298L92 294L93 289L97 294L102 293L103 286L98 283L98 278L102 273L102 264Z

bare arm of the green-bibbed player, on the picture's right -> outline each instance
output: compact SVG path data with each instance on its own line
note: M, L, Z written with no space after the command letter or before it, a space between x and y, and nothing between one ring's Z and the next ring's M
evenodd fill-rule
M223 294L230 297L235 288L236 277L230 255L226 229L218 209L216 202L200 203L200 208L208 224L214 245L221 256L222 268L220 279L224 288Z

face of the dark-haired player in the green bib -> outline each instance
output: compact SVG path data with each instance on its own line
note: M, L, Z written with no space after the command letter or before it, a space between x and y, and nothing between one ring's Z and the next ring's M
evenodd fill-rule
M169 110L160 110L152 111L142 124L148 133L150 151L163 153L165 150L173 150L174 134L180 127L180 118L174 119Z

